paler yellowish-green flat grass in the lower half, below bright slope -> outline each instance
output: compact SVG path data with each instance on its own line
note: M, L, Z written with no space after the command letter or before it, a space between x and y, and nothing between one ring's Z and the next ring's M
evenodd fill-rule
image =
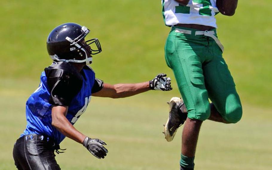
M15 169L13 143L26 125L25 101L38 84L9 79L2 82L0 169L10 170ZM67 151L56 156L59 165L62 169L178 169L182 128L172 142L166 142L161 133L170 97L166 92L154 91L127 99L93 97L75 127L106 141L109 154L104 160L97 160L78 143L65 139L61 148ZM271 169L271 111L244 105L244 116L238 124L204 122L196 169Z

